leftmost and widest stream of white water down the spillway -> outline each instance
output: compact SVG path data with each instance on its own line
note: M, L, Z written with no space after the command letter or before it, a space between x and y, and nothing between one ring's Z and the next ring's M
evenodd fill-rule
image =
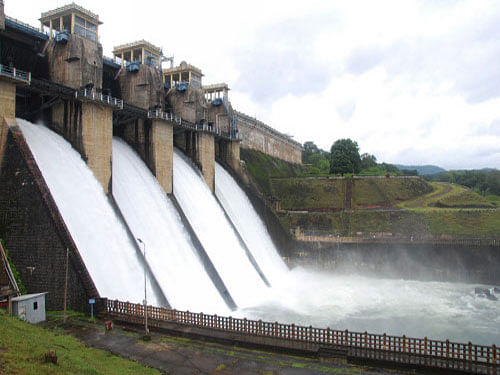
M61 136L43 125L17 123L99 294L140 303L142 264L92 171ZM148 302L158 304L151 285L148 289Z

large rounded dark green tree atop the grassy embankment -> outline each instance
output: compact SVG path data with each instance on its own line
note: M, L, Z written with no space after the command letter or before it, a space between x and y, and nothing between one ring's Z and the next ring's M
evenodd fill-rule
M358 173L361 169L358 143L339 139L330 150L330 173Z

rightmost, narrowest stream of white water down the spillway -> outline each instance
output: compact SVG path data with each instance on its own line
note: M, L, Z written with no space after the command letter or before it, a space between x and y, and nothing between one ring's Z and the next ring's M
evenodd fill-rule
M215 164L215 195L273 286L286 282L288 269L245 192L219 164Z

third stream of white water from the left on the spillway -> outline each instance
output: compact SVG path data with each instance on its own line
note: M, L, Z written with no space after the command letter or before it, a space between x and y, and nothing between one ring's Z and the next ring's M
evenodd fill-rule
M268 289L250 263L203 177L174 152L174 195L238 306L252 306Z

